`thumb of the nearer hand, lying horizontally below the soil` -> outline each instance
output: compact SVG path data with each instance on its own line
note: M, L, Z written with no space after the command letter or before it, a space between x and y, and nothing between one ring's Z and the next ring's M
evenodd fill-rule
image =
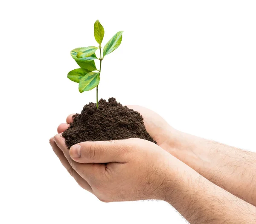
M70 148L70 157L80 163L125 163L136 144L136 139L81 142Z

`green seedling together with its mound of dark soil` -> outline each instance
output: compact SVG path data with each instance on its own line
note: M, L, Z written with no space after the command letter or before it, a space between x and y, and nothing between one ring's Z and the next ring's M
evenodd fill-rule
M94 37L99 46L75 48L70 52L80 68L70 71L67 77L79 83L80 93L96 88L96 103L91 102L85 105L80 114L73 116L70 127L62 133L68 148L85 141L141 138L154 142L145 129L140 113L122 106L113 97L108 99L108 102L104 99L98 101L102 60L119 47L122 42L122 33L123 31L117 32L105 44L102 51L105 31L97 20L94 23ZM99 57L96 56L98 49ZM99 60L99 69L96 68L94 60Z

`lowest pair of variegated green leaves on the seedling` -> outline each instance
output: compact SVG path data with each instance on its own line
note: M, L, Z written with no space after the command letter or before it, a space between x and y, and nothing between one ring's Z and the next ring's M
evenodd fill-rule
M73 82L79 83L79 92L89 91L99 85L99 72L91 72L85 68L77 68L70 71L67 77Z

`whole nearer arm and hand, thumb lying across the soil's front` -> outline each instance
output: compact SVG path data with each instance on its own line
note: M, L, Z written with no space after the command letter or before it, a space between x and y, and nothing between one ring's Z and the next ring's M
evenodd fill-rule
M50 143L79 185L101 201L160 199L191 224L256 224L256 207L152 142L81 142L68 150L61 135L56 135Z

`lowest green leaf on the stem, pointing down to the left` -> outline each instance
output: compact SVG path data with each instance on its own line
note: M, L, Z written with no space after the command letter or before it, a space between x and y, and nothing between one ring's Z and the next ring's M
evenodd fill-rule
M81 77L79 82L79 92L89 91L99 85L99 72L89 72L86 76Z

